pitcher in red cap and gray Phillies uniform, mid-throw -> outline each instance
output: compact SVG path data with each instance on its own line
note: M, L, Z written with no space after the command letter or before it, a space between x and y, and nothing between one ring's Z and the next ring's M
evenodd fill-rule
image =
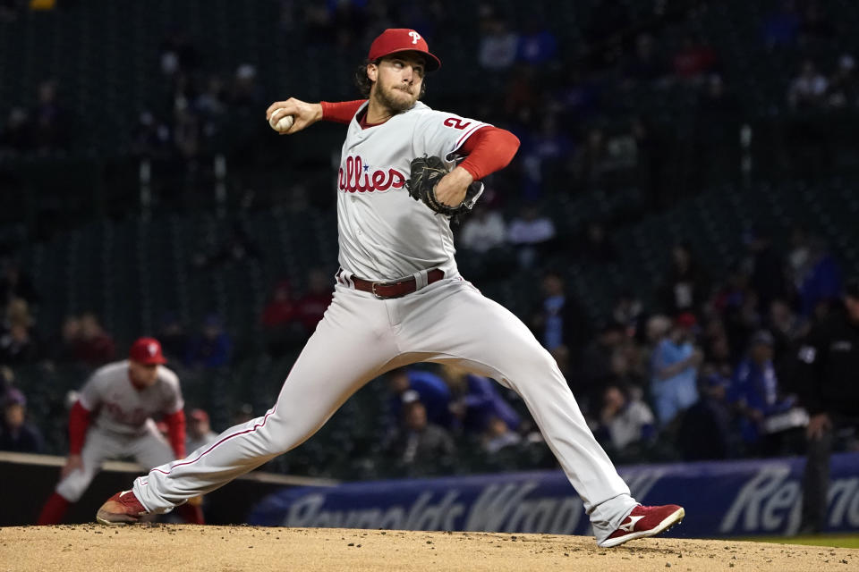
M456 269L447 216L404 189L420 156L467 158L442 178L435 198L459 205L468 186L506 166L515 137L418 101L438 58L411 29L388 29L370 46L369 101L272 105L291 114L286 132L319 119L349 127L337 176L341 265L334 300L265 416L228 429L208 448L156 467L98 511L106 524L166 512L291 450L319 430L364 383L418 361L453 363L517 391L581 495L601 546L676 524L675 505L645 508L630 496L594 440L552 357L515 315L465 282ZM276 115L273 115L276 114ZM287 122L288 123L288 122Z

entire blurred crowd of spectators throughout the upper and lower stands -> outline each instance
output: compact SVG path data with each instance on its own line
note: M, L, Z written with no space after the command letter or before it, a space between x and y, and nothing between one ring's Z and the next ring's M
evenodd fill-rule
M668 272L661 283L627 284L610 313L597 320L566 288L566 267L559 259L605 265L622 263L623 257L610 221L587 221L576 236L558 229L557 218L549 215L557 199L610 186L620 174L631 177L645 196L647 212L635 213L638 219L679 199L667 180L671 134L625 98L635 103L642 88L682 91L694 102L693 131L702 139L696 149L706 157L720 126L742 116L750 95L730 83L736 63L709 38L690 31L678 46L668 47L668 26L694 19L714 3L659 0L645 22L631 20L621 3L596 4L574 49L545 18L515 21L494 4L478 8L477 38L468 49L487 96L452 111L513 130L522 147L515 163L489 181L476 212L455 228L462 265L474 270L466 278L479 284L516 271L541 275L539 286L526 293L532 311L520 317L555 357L591 429L618 462L801 452L809 418L807 380L795 374L797 351L815 325L843 311L849 273L818 236L820 230L796 226L785 241L769 229L748 228L744 248L729 253L729 270L718 274L712 261L677 243L664 253ZM308 49L333 47L355 63L378 29L419 29L433 46L456 17L438 0L282 0L278 5L283 33L301 34ZM773 5L756 22L754 41L773 58L789 55L796 65L781 78L771 108L799 115L859 107L854 55L840 50L835 59L816 55L821 45L834 45L849 30L825 3ZM21 3L0 4L0 21L14 21L20 13ZM153 81L163 97L135 110L132 156L173 162L193 174L225 141L234 164L251 164L261 148L271 147L260 117L268 101L281 96L266 91L255 63L214 69L202 38L175 28L159 46L157 73ZM21 97L31 101L2 110L0 158L63 153L87 127L78 124L78 110L65 103L63 86L54 80ZM730 130L727 136L734 147L736 134ZM205 273L279 256L251 235L236 224L222 240L200 245L188 265ZM265 354L289 356L302 348L330 302L330 276L308 269L305 276L284 276L269 286L268 305L253 319ZM37 290L14 257L4 260L0 449L45 448L41 433L47 429L29 420L28 388L16 382L18 368L75 366L82 384L87 372L124 356L127 341L115 340L105 325L109 315L81 311L56 327L41 324L38 308L49 296L47 288ZM172 308L158 309L163 316L151 333L180 378L183 372L224 371L240 358L256 358L237 357L240 341L224 315L213 311L190 324ZM485 378L427 366L387 374L384 383L385 431L373 454L405 472L455 471L474 451L489 458L511 456L509 467L515 468L527 462L516 458L519 452L545 450L523 402ZM235 420L261 413L244 404L234 408ZM194 409L190 417L200 425L193 438L210 438L208 413ZM54 443L47 449L63 447Z

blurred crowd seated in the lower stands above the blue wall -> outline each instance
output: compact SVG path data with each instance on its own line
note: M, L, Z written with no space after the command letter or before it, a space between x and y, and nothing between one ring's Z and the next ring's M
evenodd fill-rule
M796 356L815 324L844 312L845 279L825 243L803 227L789 243L749 230L744 245L723 275L711 275L687 245L674 245L656 299L645 304L630 288L598 323L566 291L562 273L543 272L532 314L521 317L555 357L592 431L618 462L804 451L810 382L796 373ZM0 445L41 450L38 427L26 422L26 397L14 383L16 366L75 364L82 383L85 372L123 352L92 313L68 316L55 337L38 332L33 313L40 294L13 260L4 264L2 286ZM330 303L330 280L318 269L301 291L293 294L288 280L276 283L259 315L268 356L299 351ZM216 314L196 333L167 314L157 336L180 374L234 366L233 337ZM484 377L429 365L384 377L390 398L378 462L438 474L456 470L459 455L474 450L491 457L541 442L515 392ZM236 411L234 418L251 413ZM205 411L194 416L208 424Z

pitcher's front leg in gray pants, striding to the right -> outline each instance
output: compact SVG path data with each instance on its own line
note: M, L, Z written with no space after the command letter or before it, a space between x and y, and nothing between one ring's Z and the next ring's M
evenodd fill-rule
M597 540L607 538L637 502L594 439L554 359L515 315L470 283L445 281L434 295L429 307L445 319L415 312L404 344L434 352L432 361L451 361L488 375L522 396L582 497Z

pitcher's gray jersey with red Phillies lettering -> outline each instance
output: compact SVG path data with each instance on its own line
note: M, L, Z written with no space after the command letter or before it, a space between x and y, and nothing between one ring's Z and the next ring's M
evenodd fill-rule
M361 106L356 117L367 104ZM434 111L417 102L375 127L349 124L337 178L339 262L349 274L394 280L421 270L456 273L447 217L409 197L414 157L453 153L487 123Z

